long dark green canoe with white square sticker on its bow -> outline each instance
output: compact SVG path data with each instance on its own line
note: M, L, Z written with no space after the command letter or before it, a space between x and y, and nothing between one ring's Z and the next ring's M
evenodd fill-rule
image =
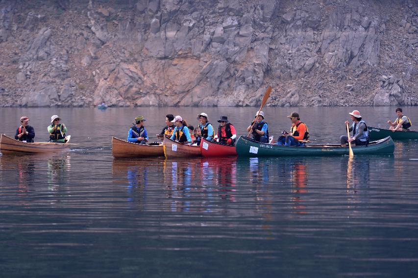
M341 145L306 145L305 147L278 146L256 142L240 136L235 144L240 156L331 156L348 155L348 147ZM354 155L393 153L395 146L391 137L369 143L369 146L352 147Z

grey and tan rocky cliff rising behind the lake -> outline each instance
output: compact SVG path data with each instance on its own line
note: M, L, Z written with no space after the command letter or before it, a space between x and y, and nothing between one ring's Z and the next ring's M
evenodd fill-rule
M418 105L418 0L0 0L0 106Z

